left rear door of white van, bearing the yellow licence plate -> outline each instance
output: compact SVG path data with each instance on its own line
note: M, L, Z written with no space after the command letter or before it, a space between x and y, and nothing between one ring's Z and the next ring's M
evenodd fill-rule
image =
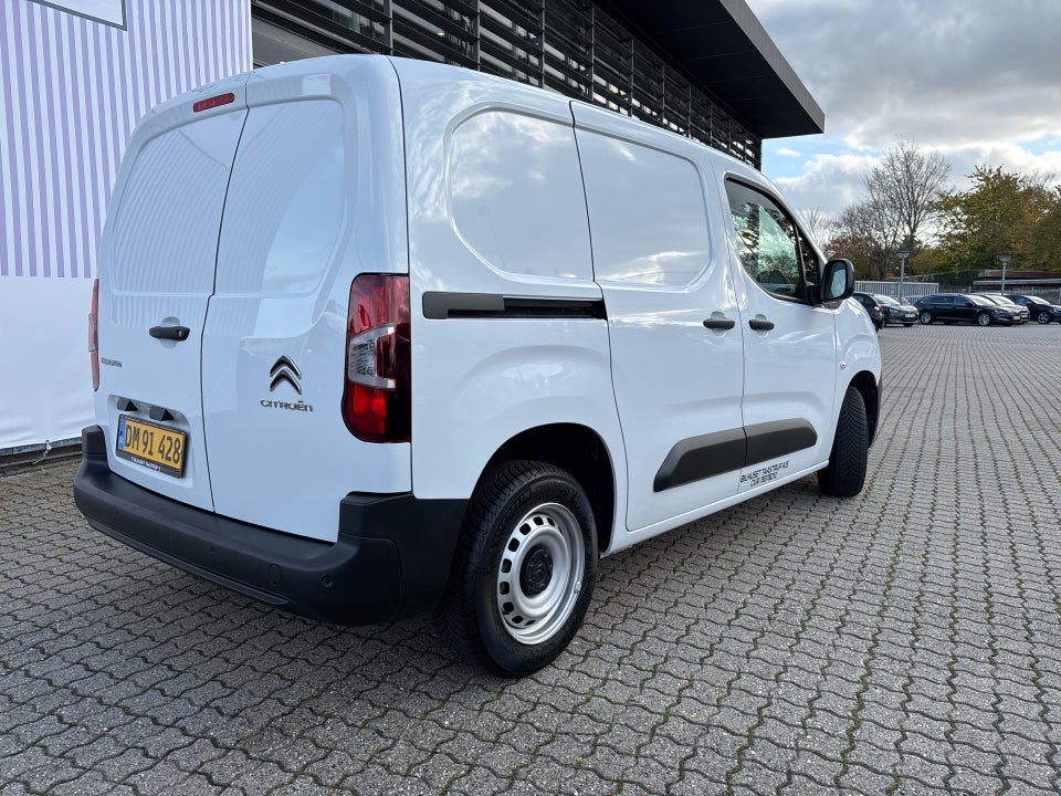
M160 105L126 150L99 250L99 389L111 469L212 509L200 346L244 76Z

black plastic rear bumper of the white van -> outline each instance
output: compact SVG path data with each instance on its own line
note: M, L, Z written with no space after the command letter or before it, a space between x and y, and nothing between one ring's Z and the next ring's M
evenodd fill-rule
M442 599L468 501L353 493L332 544L229 520L115 475L98 426L82 432L74 501L88 524L180 569L339 625L424 616Z

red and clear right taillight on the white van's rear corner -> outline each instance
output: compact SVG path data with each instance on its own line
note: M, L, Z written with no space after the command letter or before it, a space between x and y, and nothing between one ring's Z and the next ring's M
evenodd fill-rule
M343 420L358 439L409 440L410 352L409 277L357 276L346 322Z

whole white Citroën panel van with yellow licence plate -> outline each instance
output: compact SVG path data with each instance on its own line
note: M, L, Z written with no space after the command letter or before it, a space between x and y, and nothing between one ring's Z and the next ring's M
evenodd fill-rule
M324 621L548 663L598 557L817 472L861 491L881 359L776 188L547 91L381 55L136 128L74 492L114 538Z

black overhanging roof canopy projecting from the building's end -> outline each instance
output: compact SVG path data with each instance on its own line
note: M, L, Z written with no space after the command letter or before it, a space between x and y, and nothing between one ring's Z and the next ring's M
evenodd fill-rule
M745 0L605 0L763 138L812 135L826 114Z

